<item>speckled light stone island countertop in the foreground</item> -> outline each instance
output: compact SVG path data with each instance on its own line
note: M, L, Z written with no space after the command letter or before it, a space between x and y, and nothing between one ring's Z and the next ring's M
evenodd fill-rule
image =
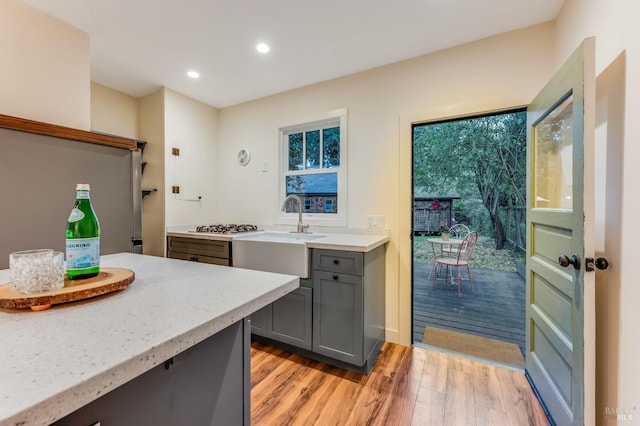
M47 425L299 286L298 277L120 253L124 291L0 310L0 425ZM0 271L0 284L9 271Z

